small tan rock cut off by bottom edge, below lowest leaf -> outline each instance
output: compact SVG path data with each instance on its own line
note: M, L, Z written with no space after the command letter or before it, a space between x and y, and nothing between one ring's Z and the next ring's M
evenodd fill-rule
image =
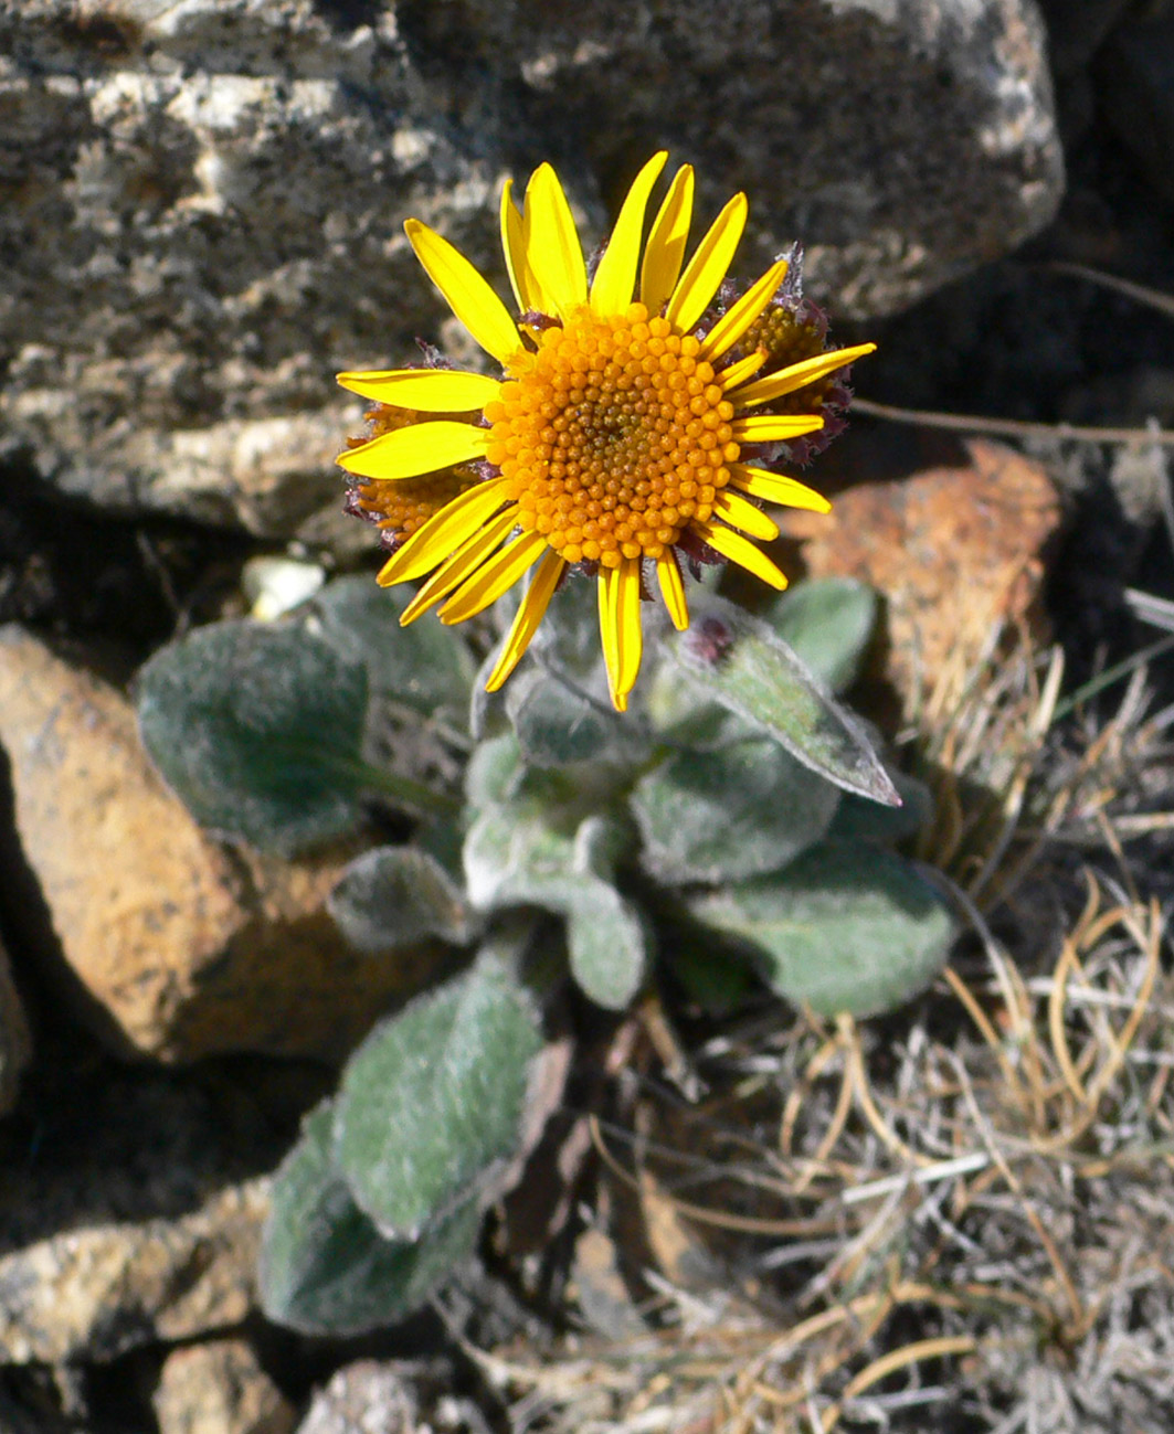
M297 1423L244 1339L174 1349L151 1402L159 1434L288 1434Z

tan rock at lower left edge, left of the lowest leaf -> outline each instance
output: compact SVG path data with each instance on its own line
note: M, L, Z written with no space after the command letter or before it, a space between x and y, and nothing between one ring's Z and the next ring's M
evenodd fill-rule
M174 1220L82 1226L0 1256L0 1359L112 1359L240 1324L267 1209L253 1180Z

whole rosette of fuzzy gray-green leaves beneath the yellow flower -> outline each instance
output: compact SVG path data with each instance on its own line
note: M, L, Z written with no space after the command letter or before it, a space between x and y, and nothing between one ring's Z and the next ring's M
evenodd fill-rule
M291 622L220 624L148 665L145 740L201 820L296 850L359 812L369 694L454 726L468 650L428 619L400 630L405 601L342 579ZM696 588L690 607L682 635L644 614L646 681L617 716L594 585L557 592L505 693L472 694L497 734L476 733L464 810L418 800L410 845L367 850L337 882L329 909L359 951L494 936L380 1021L306 1123L274 1182L271 1318L370 1329L471 1253L545 1117L538 962L544 984L568 975L623 1010L659 944L676 988L715 1014L755 972L791 1001L864 1015L939 969L950 916L883 846L917 827L927 793L900 779L894 806L868 733L830 695L858 670L874 595L809 584L753 618ZM565 944L531 948L517 908L558 918Z

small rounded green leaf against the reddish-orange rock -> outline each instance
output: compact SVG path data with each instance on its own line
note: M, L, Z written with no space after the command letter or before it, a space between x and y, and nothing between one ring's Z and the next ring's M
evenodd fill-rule
M817 578L779 594L762 617L825 687L844 693L877 625L877 595L854 578Z

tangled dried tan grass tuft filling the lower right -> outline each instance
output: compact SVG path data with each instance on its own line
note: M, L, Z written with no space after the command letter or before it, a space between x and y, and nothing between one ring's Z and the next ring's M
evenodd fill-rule
M1058 737L1022 635L947 677L921 855L969 951L884 1021L771 1005L696 1098L629 1073L593 1137L633 1332L478 1354L518 1434L1174 1428L1174 978L1128 858L1171 716L1141 674Z

